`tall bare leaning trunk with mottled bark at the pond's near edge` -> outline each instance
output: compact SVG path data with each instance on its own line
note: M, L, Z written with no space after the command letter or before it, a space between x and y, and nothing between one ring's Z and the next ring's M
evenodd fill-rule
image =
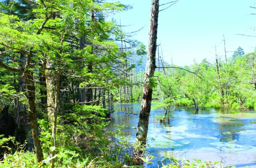
M152 78L156 69L156 39L158 27L159 0L151 1L150 12L150 32L148 42L148 56L146 63L146 73L144 76L144 92L142 96L140 116L138 122L138 132L136 134L136 142L140 145L146 145L148 134L148 120L152 100ZM141 152L139 152L141 154ZM140 161L140 159L138 160Z

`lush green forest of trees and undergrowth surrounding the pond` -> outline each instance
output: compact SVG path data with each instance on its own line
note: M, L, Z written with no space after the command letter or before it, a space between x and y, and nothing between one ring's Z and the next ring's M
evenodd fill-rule
M227 56L223 35L212 60L167 63L157 43L158 12L176 2L152 0L143 44L108 18L132 8L117 1L0 1L0 167L232 167L150 153L150 123L171 127L182 111L176 108L244 114L256 139L256 49L235 46ZM136 118L135 128L109 129L120 105L136 103L138 113L124 113ZM127 135L128 127L136 135Z

